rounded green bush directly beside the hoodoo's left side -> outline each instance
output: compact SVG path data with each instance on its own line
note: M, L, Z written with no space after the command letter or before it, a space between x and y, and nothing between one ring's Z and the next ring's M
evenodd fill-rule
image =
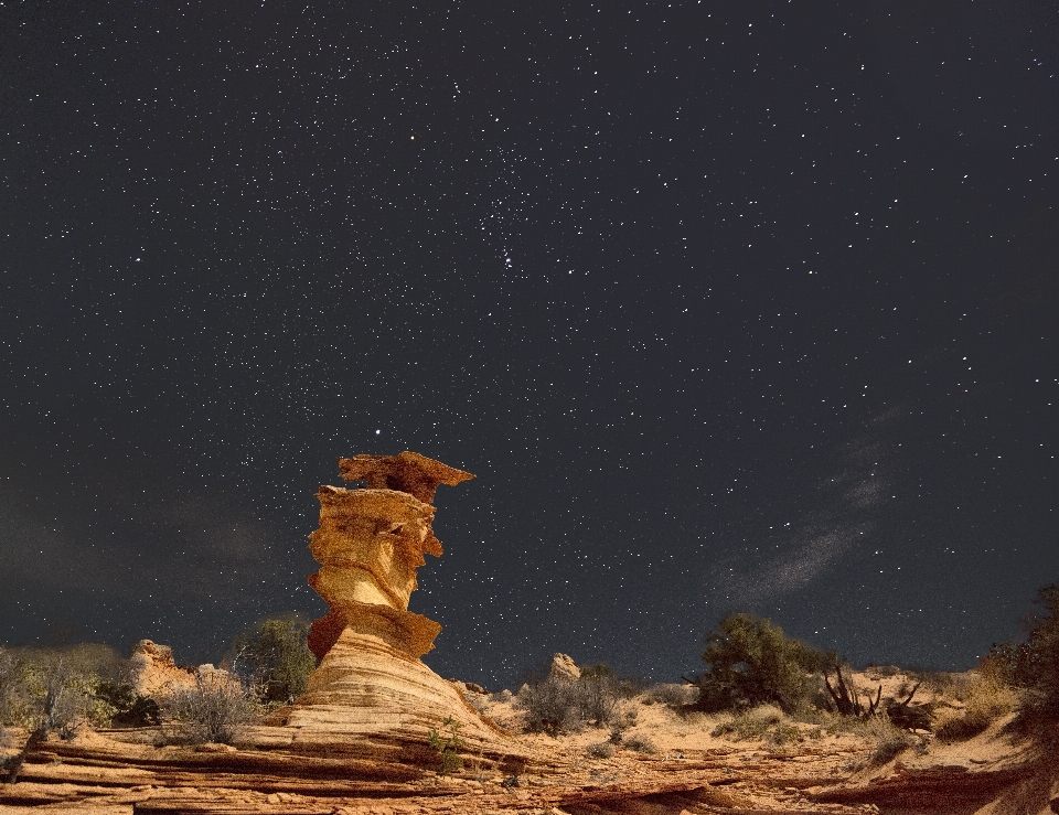
M265 704L282 705L304 693L317 657L309 624L296 618L263 620L240 634L222 664L255 689Z

